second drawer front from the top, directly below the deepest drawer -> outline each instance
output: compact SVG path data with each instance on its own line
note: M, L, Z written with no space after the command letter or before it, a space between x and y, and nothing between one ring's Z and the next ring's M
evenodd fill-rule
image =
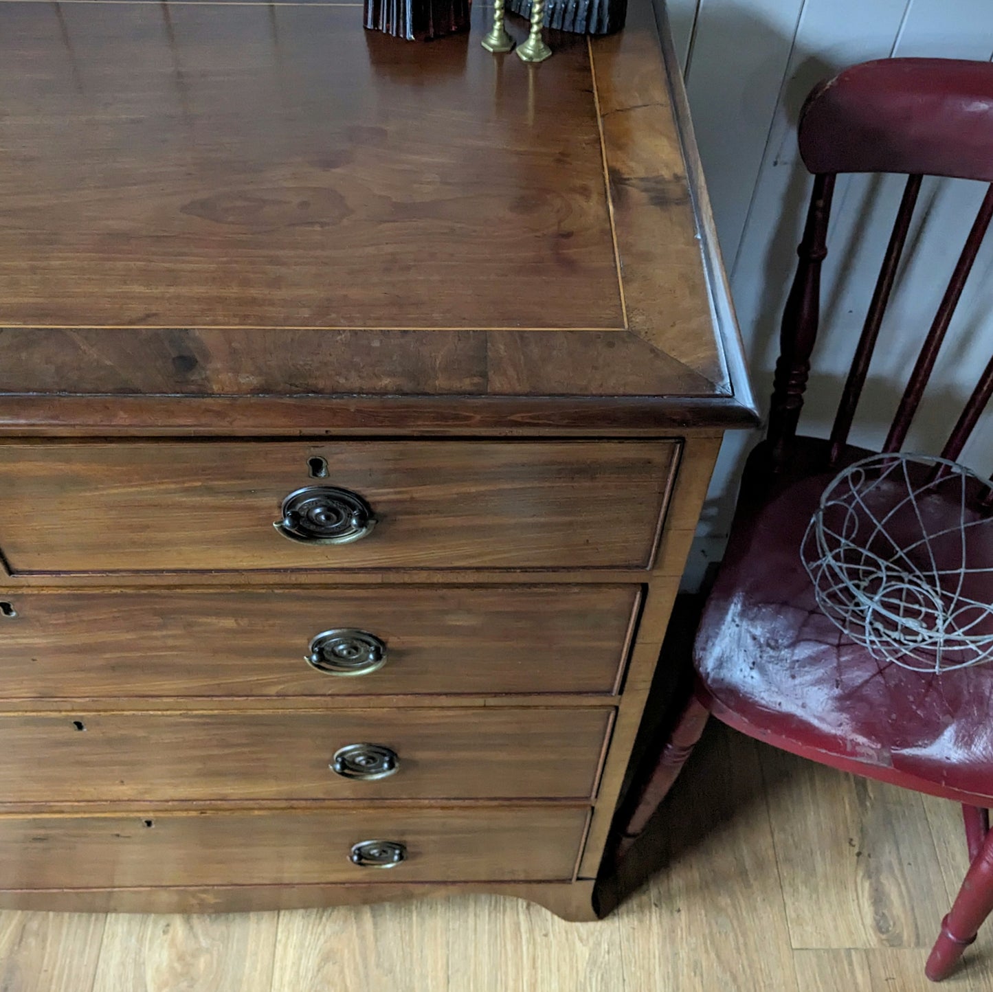
M0 613L0 698L610 693L638 597L597 585L24 593ZM353 634L319 637L330 631ZM360 635L381 642L382 663L336 663L368 644Z

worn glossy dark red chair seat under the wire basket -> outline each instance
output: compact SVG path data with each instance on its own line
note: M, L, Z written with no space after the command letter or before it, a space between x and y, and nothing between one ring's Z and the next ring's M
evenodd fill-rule
M763 448L746 470L696 639L701 701L725 723L822 764L993 805L993 664L911 671L877 660L820 613L799 548L838 466L811 474L825 464L824 442L795 444L772 487ZM867 454L848 448L841 464ZM969 537L987 561L991 530ZM993 574L982 579L987 596L991 586Z

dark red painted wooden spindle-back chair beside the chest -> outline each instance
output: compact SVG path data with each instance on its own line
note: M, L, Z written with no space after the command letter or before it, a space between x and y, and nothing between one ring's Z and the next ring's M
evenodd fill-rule
M694 698L635 797L630 846L679 773L707 715L785 751L837 769L962 803L971 867L926 965L945 977L993 910L993 664L940 675L884 664L817 609L799 547L818 497L869 452L849 429L898 272L922 175L993 184L993 65L931 59L866 63L816 87L799 123L814 174L799 266L782 319L769 435L745 470L727 556L704 609ZM821 261L839 173L908 176L830 440L796 434L817 333ZM926 336L884 451L899 451L976 251L993 215L993 186L972 224ZM941 455L956 459L993 394L993 360ZM974 513L989 513L977 487ZM959 507L948 506L949 522ZM991 528L980 557L993 560ZM971 552L972 548L970 548ZM993 578L989 580L993 587ZM993 589L991 589L993 594ZM991 595L993 600L993 595Z

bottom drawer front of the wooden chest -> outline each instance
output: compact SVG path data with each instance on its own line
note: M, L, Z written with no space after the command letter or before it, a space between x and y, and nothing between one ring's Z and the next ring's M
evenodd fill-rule
M573 877L588 815L477 806L4 816L0 889L560 881ZM403 860L357 865L363 841L402 845Z

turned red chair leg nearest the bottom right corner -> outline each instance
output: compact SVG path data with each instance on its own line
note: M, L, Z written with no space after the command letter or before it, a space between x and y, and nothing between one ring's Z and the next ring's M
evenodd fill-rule
M993 912L993 833L989 832L989 813L976 806L962 806L962 814L972 863L951 911L941 921L941 932L924 965L924 974L932 982L948 976Z

